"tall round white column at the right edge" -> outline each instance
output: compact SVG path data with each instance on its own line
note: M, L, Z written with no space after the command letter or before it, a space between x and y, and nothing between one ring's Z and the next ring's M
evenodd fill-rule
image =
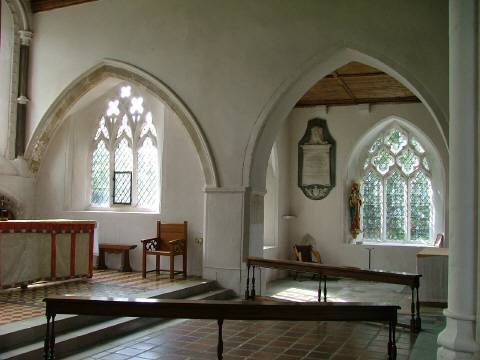
M438 359L473 359L477 240L477 1L450 0L450 231L447 326Z

